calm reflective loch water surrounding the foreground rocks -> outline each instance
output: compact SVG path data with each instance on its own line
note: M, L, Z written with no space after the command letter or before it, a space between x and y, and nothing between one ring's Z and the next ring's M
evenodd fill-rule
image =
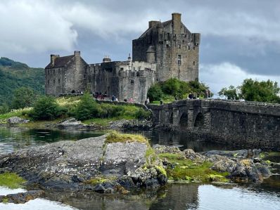
M132 132L132 131L129 131ZM135 131L133 131L135 132ZM193 139L186 134L163 131L138 131L151 144L177 145L196 152L208 150L239 150L229 144L209 143ZM101 136L96 131L61 131L0 126L0 155L26 147L44 145L60 140L79 140ZM280 163L280 157L272 157ZM212 185L202 183L170 184L158 191L145 190L129 195L102 195L96 192L46 191L44 197L26 204L3 204L0 209L279 209L280 210L280 164L275 166L274 176L263 183ZM0 187L0 195L24 192Z

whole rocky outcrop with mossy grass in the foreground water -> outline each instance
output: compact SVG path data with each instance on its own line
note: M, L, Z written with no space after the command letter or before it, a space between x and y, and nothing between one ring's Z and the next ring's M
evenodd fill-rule
M261 182L272 175L269 163L260 158L260 150L181 151L164 145L151 148L148 141L130 137L110 142L107 137L61 141L1 155L0 173L17 173L30 189L122 194L139 188L157 189L166 185L167 179L170 183L240 183ZM203 174L203 179L201 174L185 176L205 164L210 172ZM174 176L177 173L184 174L183 178Z

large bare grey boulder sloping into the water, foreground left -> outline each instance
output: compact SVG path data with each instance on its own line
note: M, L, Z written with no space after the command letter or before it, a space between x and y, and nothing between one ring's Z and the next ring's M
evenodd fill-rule
M45 189L94 190L93 183L100 184L94 182L96 178L102 180L101 183L112 181L112 185L117 185L116 181L122 185L125 179L134 178L132 185L139 187L144 183L135 182L135 171L146 164L147 149L147 143L136 141L107 143L104 135L30 147L2 155L0 168L18 173L27 180L27 185L39 184ZM163 185L160 171L151 178L158 178ZM111 191L106 185L103 188L104 192ZM96 189L100 191L102 188Z

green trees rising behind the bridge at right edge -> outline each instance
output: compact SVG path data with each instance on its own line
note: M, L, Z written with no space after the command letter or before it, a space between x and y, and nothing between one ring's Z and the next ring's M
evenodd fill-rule
M267 103L280 103L280 88L276 81L257 81L244 79L241 86L229 86L219 91L219 96L226 96L228 99L243 99L248 101L260 101Z

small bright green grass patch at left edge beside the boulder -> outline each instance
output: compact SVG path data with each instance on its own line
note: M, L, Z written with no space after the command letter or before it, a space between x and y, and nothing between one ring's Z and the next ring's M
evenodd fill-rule
M0 174L0 186L16 189L22 187L23 183L25 183L25 180L16 173L5 172Z

